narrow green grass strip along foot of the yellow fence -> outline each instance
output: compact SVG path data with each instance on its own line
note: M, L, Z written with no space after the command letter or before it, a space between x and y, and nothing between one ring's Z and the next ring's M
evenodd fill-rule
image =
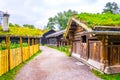
M23 63L19 64L18 66L16 66L14 69L8 71L7 73L5 73L4 75L0 76L0 80L14 80L16 74L19 72L19 70L25 65L27 64L30 60L32 60L33 58L35 58L37 55L39 55L41 53L41 50L39 50L37 53L35 53L33 56L31 56L29 59L27 59L26 61L24 61Z

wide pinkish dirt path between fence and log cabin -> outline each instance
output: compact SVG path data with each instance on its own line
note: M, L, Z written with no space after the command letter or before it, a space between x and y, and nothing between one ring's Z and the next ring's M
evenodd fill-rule
M15 80L100 80L89 68L72 57L48 47L25 65Z

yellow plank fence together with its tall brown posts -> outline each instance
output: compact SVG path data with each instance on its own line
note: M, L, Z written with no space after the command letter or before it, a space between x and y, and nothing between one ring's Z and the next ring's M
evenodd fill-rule
M28 46L23 47L23 38L19 38L20 47L10 49L10 36L6 36L6 50L0 50L0 76L13 69L20 63L24 62L39 50L39 39L33 38L30 46L30 38L28 38ZM36 41L35 41L36 40ZM36 43L36 44L34 44Z

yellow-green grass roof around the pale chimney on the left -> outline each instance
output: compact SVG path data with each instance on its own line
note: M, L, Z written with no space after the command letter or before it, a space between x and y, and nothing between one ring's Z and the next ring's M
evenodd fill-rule
M40 29L23 28L23 27L9 27L8 32L3 32L0 27L0 35L12 35L12 36L41 36L45 31Z

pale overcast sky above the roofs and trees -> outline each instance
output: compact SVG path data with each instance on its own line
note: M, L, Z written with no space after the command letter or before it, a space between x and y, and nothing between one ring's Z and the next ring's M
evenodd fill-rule
M101 13L107 2L120 0L0 0L0 10L10 14L13 24L33 24L43 28L49 17L68 9L80 12Z

